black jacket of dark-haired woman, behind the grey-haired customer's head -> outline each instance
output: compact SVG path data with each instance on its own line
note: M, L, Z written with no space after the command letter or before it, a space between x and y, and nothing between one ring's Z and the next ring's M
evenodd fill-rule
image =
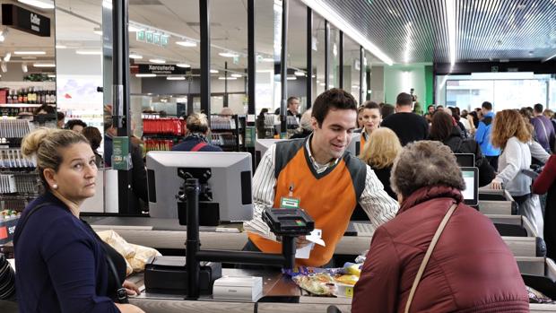
M482 156L479 143L473 139L464 139L461 137L459 127L454 127L452 133L444 142L454 153L473 153L475 155L475 167L479 169L479 186L487 186L492 179L496 177L494 169L488 161Z

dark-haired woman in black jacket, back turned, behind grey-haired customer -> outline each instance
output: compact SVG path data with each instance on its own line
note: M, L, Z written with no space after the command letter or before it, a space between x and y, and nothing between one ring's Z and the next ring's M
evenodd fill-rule
M459 127L454 124L454 118L447 113L437 112L432 117L429 139L446 144L454 153L473 153L475 167L479 169L479 186L488 185L495 177L494 169L482 156L479 143L473 139L462 138Z

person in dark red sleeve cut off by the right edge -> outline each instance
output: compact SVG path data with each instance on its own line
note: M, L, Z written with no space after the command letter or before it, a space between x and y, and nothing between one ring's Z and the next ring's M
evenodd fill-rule
M546 242L546 256L556 258L556 155L552 154L544 165L543 172L534 179L533 193L546 195L544 208L544 242Z

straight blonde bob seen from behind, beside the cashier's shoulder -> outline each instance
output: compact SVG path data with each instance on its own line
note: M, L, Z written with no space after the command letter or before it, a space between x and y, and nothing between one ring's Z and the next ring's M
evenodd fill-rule
M394 131L382 127L369 135L360 158L373 169L384 169L394 163L395 157L401 151L402 144Z

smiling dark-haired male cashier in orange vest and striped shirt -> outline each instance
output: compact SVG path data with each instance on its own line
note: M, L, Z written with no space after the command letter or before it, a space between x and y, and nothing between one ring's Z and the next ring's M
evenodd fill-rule
M397 211L369 166L345 149L352 141L357 102L340 89L321 93L312 106L313 134L305 139L274 143L265 152L253 178L253 220L244 223L248 244L244 249L281 253L282 244L262 220L268 207L281 207L282 197L300 200L322 230L326 247L315 246L297 265L330 266L334 250L347 229L357 203L376 229ZM298 238L298 247L308 241Z

